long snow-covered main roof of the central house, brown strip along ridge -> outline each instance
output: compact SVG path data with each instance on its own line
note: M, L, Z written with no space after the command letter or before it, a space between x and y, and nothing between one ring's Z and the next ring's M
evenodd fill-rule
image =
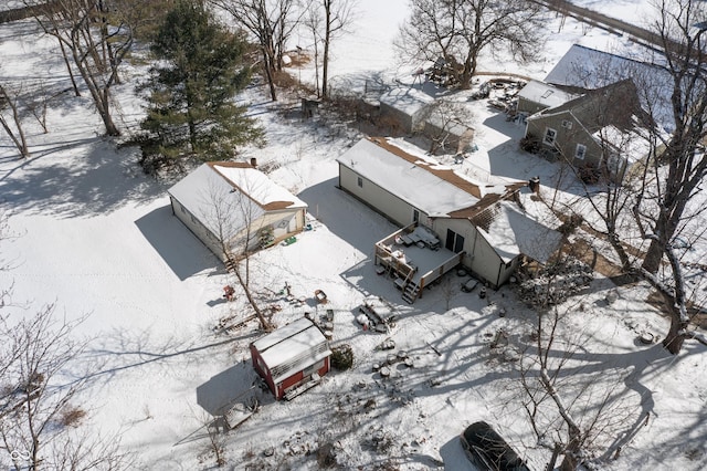
M482 187L429 156L412 155L387 139L361 139L337 161L395 195L430 217L449 217L468 209L505 186Z

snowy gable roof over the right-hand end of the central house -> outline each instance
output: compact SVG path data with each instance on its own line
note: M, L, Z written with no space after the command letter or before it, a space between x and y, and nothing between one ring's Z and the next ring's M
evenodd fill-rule
M499 201L488 230L478 227L500 259L508 263L519 254L546 263L560 248L562 234L531 218L511 201Z

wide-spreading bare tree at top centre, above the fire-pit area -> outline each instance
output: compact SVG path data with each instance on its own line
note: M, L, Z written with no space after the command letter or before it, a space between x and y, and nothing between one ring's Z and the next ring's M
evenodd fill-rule
M483 51L534 59L542 44L544 10L527 0L411 0L395 46L415 61L441 60L453 82L471 86Z

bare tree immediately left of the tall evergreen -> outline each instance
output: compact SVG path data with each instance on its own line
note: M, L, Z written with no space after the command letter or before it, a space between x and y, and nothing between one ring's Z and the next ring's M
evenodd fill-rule
M120 135L113 119L115 105L110 91L119 83L119 66L134 42L127 2L118 1L118 7L109 11L103 1L94 0L50 3L25 0L25 3L36 7L35 19L43 31L56 38L62 51L71 56L103 119L106 134ZM67 66L71 72L72 67Z

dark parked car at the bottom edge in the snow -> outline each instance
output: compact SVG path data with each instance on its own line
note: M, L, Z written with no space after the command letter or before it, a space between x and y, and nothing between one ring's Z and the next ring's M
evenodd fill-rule
M474 422L460 437L466 457L479 470L530 471L506 440L486 422Z

